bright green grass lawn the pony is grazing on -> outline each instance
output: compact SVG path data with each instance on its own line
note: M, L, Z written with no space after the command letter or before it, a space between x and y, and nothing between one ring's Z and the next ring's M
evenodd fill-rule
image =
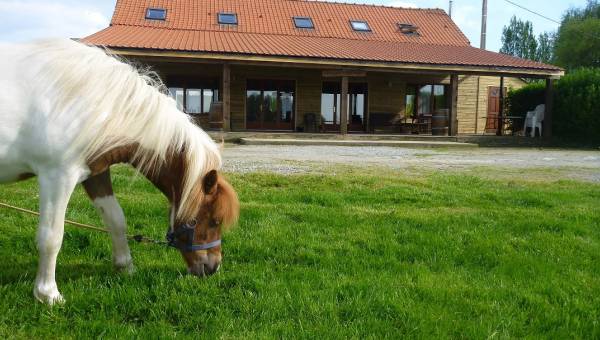
M341 173L344 173L341 175ZM162 238L165 199L126 168L115 189L131 233ZM172 249L67 227L57 281L34 301L36 219L0 210L0 336L189 338L600 338L600 186L344 169L230 174L240 225L221 272L185 275ZM36 182L0 200L37 209ZM78 189L68 218L100 224Z

